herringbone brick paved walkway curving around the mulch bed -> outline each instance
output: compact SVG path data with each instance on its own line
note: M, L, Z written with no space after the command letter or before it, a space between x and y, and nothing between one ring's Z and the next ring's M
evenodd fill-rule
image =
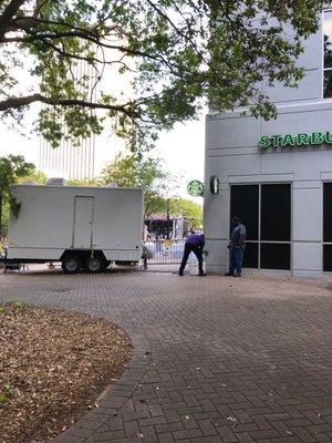
M281 278L0 276L0 299L102 316L135 354L58 443L332 442L332 291Z

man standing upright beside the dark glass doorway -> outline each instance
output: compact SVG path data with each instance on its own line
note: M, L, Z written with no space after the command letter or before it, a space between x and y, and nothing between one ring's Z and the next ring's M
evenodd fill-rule
M228 245L229 270L225 275L241 277L243 255L246 250L246 226L241 224L239 217L234 217L230 223L234 228Z

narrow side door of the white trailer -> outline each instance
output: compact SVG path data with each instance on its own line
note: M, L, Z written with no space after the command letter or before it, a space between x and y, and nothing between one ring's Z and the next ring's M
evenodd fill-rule
M75 197L73 247L92 248L94 197Z

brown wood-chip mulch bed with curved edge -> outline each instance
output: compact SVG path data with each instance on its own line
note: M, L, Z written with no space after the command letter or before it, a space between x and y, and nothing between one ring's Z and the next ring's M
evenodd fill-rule
M0 306L0 441L49 442L125 370L133 347L92 316L10 302Z

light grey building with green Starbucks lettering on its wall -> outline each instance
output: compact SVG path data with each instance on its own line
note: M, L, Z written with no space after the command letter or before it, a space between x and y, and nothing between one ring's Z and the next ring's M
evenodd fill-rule
M325 39L325 44L324 44ZM328 44L326 44L328 42ZM230 218L247 227L245 267L294 276L332 272L332 11L305 41L298 89L267 89L278 119L206 119L207 270L228 268ZM217 194L210 177L219 179Z

